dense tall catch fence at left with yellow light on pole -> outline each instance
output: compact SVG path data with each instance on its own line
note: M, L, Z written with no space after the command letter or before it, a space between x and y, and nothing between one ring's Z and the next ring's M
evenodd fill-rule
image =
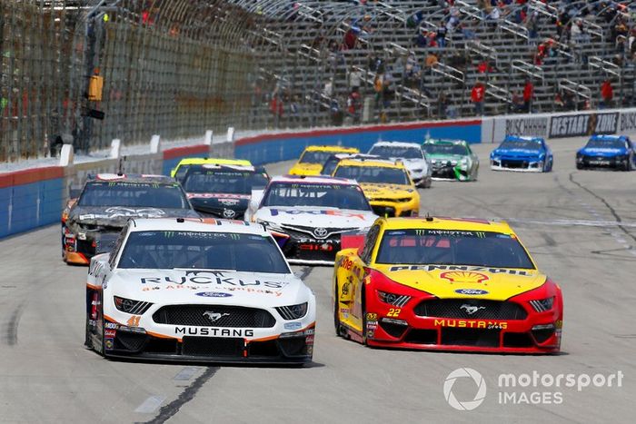
M253 22L221 0L0 2L0 162L247 126Z

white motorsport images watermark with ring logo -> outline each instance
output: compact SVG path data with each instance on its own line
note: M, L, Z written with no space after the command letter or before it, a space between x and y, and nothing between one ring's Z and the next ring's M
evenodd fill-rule
M455 382L470 379L475 385L472 399L457 399L452 391ZM564 401L562 389L582 391L587 388L621 388L622 371L611 374L552 374L531 373L500 374L497 378L497 403L502 405L561 405ZM472 368L453 370L444 380L444 399L457 410L472 410L479 407L486 399L486 380L482 374Z

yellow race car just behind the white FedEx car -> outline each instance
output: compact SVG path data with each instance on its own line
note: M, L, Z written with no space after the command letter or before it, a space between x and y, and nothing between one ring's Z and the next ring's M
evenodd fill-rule
M400 161L343 159L333 176L359 182L373 212L380 216L417 216L420 212L420 193Z

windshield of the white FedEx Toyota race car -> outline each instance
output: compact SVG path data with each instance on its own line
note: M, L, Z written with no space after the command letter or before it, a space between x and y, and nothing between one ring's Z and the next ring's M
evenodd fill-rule
M274 182L265 192L263 206L315 206L371 211L357 185Z

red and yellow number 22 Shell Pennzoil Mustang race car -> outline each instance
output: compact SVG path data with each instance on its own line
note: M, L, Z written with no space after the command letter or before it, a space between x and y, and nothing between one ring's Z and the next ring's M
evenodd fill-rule
M332 287L340 336L420 350L561 348L561 288L505 222L380 218L342 245Z

